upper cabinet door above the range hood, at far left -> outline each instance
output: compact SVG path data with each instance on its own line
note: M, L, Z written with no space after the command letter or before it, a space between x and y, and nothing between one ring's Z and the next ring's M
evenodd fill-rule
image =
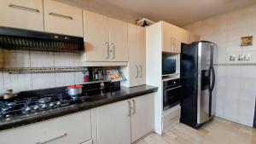
M44 31L42 0L2 0L0 13L0 26Z

